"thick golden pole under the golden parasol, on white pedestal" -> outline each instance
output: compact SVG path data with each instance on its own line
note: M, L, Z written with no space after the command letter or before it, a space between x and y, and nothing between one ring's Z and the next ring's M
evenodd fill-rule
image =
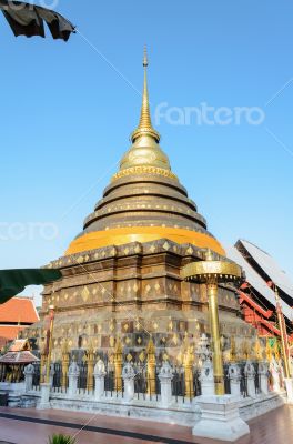
M220 340L216 280L208 281L206 286L209 297L210 330L213 350L214 391L216 395L224 395L224 372Z

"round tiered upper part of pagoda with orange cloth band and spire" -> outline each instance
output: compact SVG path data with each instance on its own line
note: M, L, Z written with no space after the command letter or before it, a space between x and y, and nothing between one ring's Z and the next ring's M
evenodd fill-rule
M131 134L132 145L94 212L85 219L83 232L65 254L158 239L191 243L224 254L221 244L206 231L205 219L198 213L159 145L160 134L153 129L150 115L146 51L143 67L141 117Z

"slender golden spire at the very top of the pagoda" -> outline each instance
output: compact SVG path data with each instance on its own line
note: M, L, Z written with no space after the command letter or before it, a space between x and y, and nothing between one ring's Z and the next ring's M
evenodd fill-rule
M148 52L146 47L144 47L143 53L143 69L144 69L144 80L143 80L143 94L142 94L142 105L141 105L141 115L140 122L138 128L131 134L131 140L134 142L141 135L151 135L155 139L156 142L160 141L160 134L158 131L154 130L151 121L151 113L150 113L150 101L149 101L149 90L148 90Z

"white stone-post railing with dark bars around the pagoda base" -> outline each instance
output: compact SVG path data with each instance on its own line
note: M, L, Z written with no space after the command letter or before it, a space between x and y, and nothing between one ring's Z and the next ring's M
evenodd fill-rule
M87 362L72 361L64 375L62 365L53 364L50 373L51 393L67 394L70 397L88 396L95 401L118 397L125 401L160 401L163 405L214 394L210 360L201 369L193 367L188 373L188 380L184 366L172 367L168 361L155 366L151 375L148 373L148 363L125 362L121 373L117 374L115 366L101 359L93 365L92 373L88 370ZM226 394L255 397L281 389L280 375L271 374L266 362L230 363L224 370ZM24 374L26 391L38 392L41 379L38 365L31 365Z

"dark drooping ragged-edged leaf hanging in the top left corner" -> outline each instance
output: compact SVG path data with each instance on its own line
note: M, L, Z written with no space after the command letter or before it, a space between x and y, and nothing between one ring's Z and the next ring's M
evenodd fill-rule
M75 32L70 21L47 8L22 1L0 0L0 9L16 37L44 37L44 21L53 39L68 41L71 32Z

